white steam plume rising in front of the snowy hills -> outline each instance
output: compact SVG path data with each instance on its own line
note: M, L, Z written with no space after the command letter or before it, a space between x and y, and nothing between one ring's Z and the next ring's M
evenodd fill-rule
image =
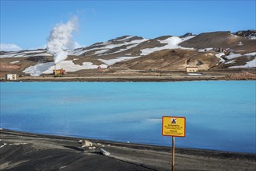
M47 42L47 51L54 55L54 63L58 64L68 57L66 49L75 47L75 42L72 41L72 32L77 25L77 17L73 17L67 23L61 23L54 26L51 30Z

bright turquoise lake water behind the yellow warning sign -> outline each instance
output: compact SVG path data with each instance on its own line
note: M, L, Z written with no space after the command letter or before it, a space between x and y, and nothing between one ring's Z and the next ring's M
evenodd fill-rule
M163 116L186 117L177 147L255 153L255 81L1 82L1 127L171 145Z

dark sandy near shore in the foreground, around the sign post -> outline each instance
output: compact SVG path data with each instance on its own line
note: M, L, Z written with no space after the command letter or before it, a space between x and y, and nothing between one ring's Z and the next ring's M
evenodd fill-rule
M2 170L170 170L171 166L168 146L86 139L96 147L88 152L78 143L84 138L6 129L0 135ZM110 155L101 155L100 148ZM176 170L254 170L256 166L256 154L250 153L176 148L175 156Z

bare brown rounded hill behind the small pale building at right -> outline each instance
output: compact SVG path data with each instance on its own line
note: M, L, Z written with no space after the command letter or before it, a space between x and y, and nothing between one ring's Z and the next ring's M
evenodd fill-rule
M198 66L207 70L219 63L211 53L198 53L182 49L156 51L141 58L119 62L113 67L136 70L177 70L184 71L188 66Z

